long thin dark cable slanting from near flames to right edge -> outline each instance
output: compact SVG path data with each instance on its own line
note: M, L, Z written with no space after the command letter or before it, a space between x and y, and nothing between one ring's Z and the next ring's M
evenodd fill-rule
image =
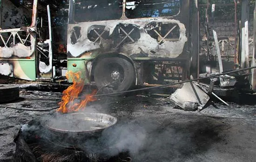
M203 78L196 78L196 79L192 79L192 80L188 80L188 81L181 81L181 82L177 82L177 83L170 83L170 84L165 84L165 85L156 86L156 87L146 87L146 88L141 88L141 89L133 89L133 90L129 90L129 91L116 92L116 93L97 94L97 95L93 95L93 96L91 96L91 97L108 96L108 95L115 95L115 94L121 94L121 93L143 91L143 90L154 89L154 88L160 88L160 87L168 87L168 86L173 86L173 85L177 85L177 84L187 83L187 82L190 82L190 81L198 81L198 80L203 80L203 79L216 78L216 77L218 77L218 76L228 75L228 74L231 74L231 73L236 73L236 72L239 72L239 71L244 71L244 70L249 70L249 69L255 69L255 68L256 68L256 66L252 66L252 67L249 67L249 68L233 70L233 71L229 71L229 72L225 72L225 73L221 73L221 74L206 76L206 77L203 77Z

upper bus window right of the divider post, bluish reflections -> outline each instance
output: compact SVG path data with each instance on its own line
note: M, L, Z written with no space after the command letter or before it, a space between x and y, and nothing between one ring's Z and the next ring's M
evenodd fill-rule
M129 19L174 16L180 12L180 0L127 0Z

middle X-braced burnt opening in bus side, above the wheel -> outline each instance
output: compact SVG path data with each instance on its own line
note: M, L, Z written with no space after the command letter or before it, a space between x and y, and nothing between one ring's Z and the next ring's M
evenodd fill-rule
M140 38L140 27L133 24L118 24L112 34L115 48L121 44L136 42Z

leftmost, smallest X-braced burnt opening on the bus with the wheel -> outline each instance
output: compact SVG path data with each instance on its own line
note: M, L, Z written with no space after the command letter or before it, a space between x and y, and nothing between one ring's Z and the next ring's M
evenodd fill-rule
M92 25L88 28L88 39L94 43L99 43L101 39L109 39L109 30L104 25Z

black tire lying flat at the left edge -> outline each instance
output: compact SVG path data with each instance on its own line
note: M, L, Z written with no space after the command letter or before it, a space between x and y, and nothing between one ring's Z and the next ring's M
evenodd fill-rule
M20 98L19 87L0 84L0 103L6 103Z

